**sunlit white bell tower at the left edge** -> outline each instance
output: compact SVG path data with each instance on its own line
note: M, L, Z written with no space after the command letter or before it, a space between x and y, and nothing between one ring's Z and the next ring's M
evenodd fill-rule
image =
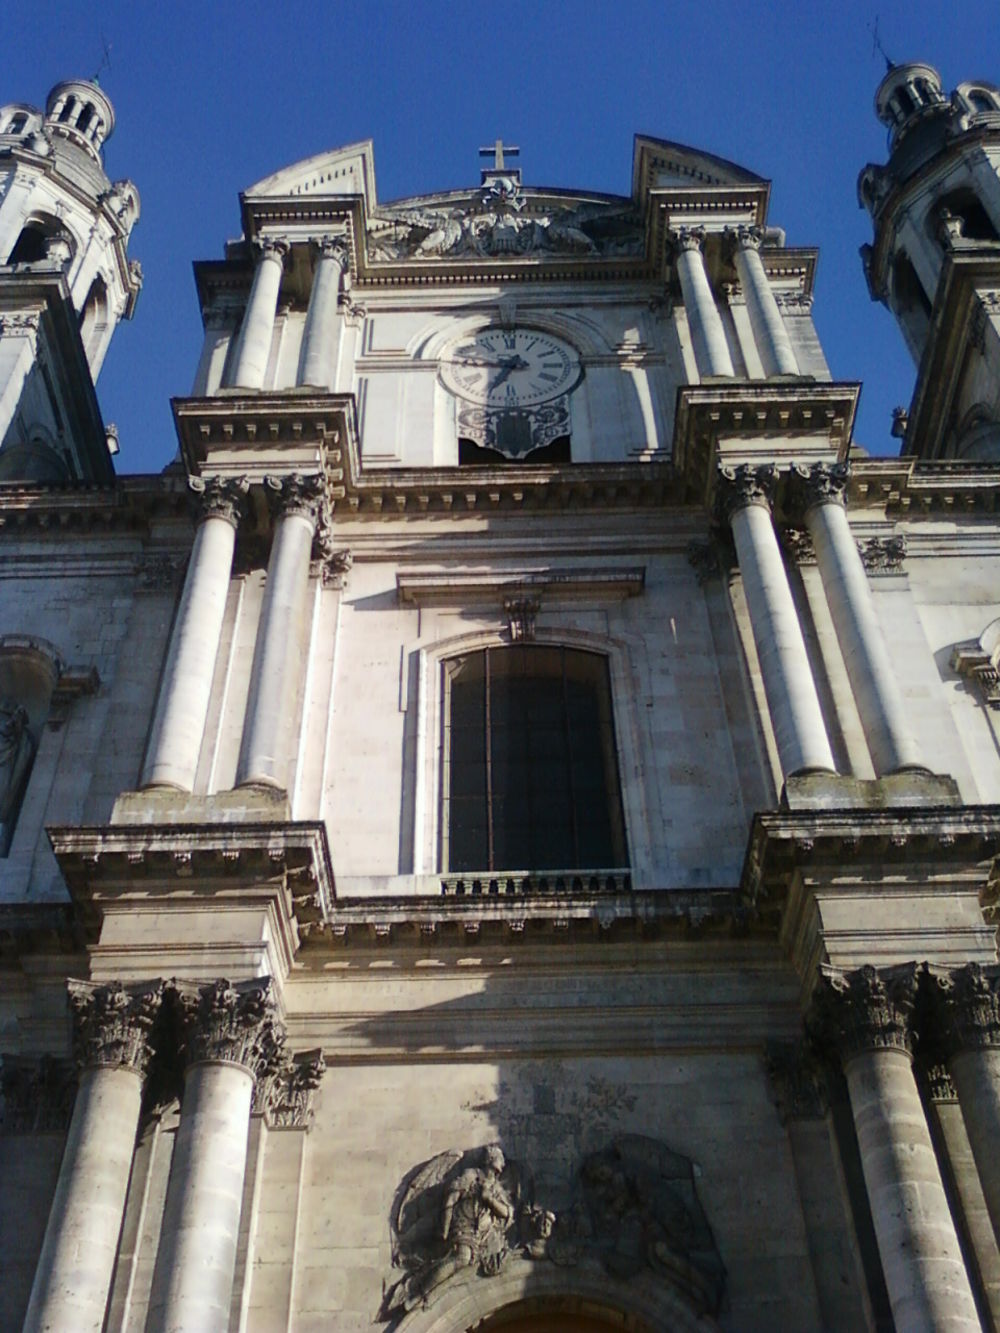
M139 192L104 171L113 128L85 79L56 84L44 112L0 107L0 483L112 476L93 385L141 287Z

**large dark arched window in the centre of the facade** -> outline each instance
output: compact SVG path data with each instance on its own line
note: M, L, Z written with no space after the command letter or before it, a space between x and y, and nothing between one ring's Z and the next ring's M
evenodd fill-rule
M628 865L607 659L515 644L444 676L443 869Z

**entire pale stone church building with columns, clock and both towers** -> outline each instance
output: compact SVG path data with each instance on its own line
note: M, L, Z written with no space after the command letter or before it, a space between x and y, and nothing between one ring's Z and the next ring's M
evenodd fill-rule
M899 457L751 171L361 143L119 477L113 109L0 108L0 1326L1000 1326L1000 89L876 112Z

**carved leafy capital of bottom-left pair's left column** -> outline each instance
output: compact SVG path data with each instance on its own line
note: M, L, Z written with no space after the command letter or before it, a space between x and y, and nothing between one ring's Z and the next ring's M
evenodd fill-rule
M149 1030L163 1004L163 982L127 989L69 980L73 1053L81 1069L131 1069L141 1077L153 1054Z

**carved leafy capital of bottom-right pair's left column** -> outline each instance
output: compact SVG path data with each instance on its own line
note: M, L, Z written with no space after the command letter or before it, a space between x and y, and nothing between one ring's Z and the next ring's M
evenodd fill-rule
M841 1060L872 1050L901 1050L912 1057L917 965L865 965L855 972L824 966L812 1000L809 1028Z

